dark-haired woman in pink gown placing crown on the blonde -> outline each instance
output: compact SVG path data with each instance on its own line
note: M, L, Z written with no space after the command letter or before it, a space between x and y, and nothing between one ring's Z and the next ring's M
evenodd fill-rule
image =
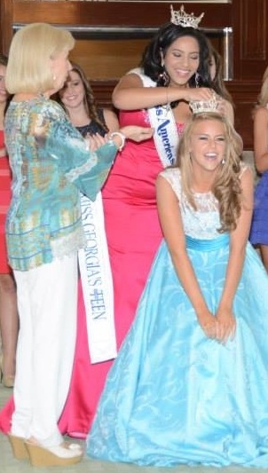
M203 84L209 86L209 79L206 79L209 77L207 64L209 48L199 30L181 28L170 23L169 30L172 32L171 43L179 42L180 50L184 51L187 57L193 56L193 51L200 51L202 48L201 54L199 52L195 54L196 59L192 60L194 64L191 64L186 77L174 77L175 73L171 69L169 72L169 98L174 101L181 100L175 103L172 109L171 107L165 109L164 114L167 119L170 115L174 117L175 140L178 142L178 135L191 115L185 99L209 99L211 96L208 88L195 88L193 79L196 70L199 69L200 75L204 77ZM167 38L168 34L164 37ZM158 40L154 39L154 43L156 41ZM170 43L163 45L164 51L167 50L165 67L168 70L170 47ZM205 66L201 67L200 62ZM193 81L190 84L191 78ZM123 106L116 97L116 91L120 93L122 85L125 86L126 94ZM142 98L139 98L140 93L143 95ZM150 126L147 108L159 103L166 105L167 87L152 85L147 87L139 71L134 71L122 78L114 94L116 106L124 108L119 115L121 126L126 124ZM152 104L153 94L154 104ZM128 106L130 110L126 109ZM174 156L175 154L176 146ZM160 157L154 138L138 146L134 142L127 141L122 152L117 154L114 166L102 189L106 240L114 283L114 325L118 350L134 319L139 297L162 240L156 209L155 180L166 165L168 163ZM113 360L91 364L82 288L79 291L78 327L72 385L59 426L60 430L67 432L68 435L85 438L91 428L106 374Z

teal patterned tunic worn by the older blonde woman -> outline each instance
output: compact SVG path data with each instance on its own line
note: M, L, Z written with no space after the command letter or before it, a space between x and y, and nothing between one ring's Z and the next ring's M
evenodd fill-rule
M61 106L43 96L12 102L4 131L12 168L9 264L28 271L83 248L79 191L96 198L117 149L108 142L90 152Z

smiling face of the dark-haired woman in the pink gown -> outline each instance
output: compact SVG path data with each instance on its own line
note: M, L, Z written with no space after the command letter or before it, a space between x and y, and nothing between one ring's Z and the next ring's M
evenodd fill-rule
M185 86L199 67L199 44L192 36L177 38L163 58L170 86Z

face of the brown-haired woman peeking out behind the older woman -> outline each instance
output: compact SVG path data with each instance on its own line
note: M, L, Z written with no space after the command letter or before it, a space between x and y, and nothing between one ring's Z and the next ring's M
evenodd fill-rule
M70 71L64 88L59 91L59 97L67 108L76 108L83 104L85 91L80 75Z

